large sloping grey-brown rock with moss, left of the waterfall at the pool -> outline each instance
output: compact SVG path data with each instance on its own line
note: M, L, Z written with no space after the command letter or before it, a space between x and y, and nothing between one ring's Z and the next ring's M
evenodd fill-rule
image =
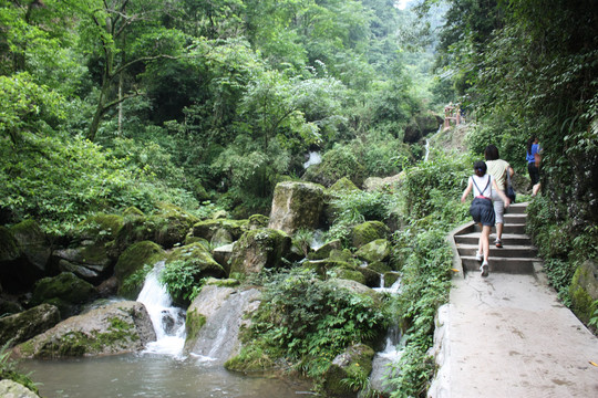
M24 358L63 358L140 352L156 339L142 303L117 302L72 316L14 347Z

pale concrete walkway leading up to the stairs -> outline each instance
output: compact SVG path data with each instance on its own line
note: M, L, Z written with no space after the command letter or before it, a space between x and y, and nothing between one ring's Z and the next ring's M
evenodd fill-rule
M598 397L598 338L558 302L535 253L526 258L530 272L527 263L526 272L493 272L491 255L488 277L456 273L439 311L429 397Z

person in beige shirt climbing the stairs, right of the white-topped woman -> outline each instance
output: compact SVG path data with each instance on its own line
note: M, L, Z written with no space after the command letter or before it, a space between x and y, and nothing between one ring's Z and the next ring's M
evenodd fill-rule
M513 167L506 161L501 159L498 155L498 148L495 145L488 145L484 150L484 157L486 158L486 166L488 168L488 174L494 177L498 189L506 193L507 186L507 172L511 177L515 174ZM492 195L492 202L494 206L494 213L496 214L496 240L494 244L497 248L503 247L503 228L505 224L504 213L505 213L505 202L498 195L494 192Z

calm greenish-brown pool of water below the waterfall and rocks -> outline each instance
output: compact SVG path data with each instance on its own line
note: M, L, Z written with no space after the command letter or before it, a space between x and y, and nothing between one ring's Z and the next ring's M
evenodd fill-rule
M193 397L290 398L308 397L302 380L248 377L195 358L131 354L101 358L22 360L23 371L39 385L44 398Z

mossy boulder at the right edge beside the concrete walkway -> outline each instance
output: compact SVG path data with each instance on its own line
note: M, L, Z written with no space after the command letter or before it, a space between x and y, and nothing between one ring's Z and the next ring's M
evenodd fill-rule
M596 311L594 302L598 300L598 264L595 261L587 260L577 268L569 294L574 313L587 323Z

